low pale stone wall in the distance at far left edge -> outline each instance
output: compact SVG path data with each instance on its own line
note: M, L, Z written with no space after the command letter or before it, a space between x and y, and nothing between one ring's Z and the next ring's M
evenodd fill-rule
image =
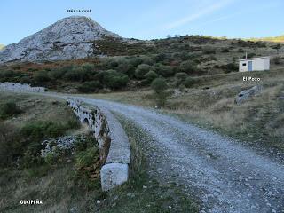
M23 92L44 92L44 87L32 87L29 84L22 83L0 83L0 90L3 91L23 91Z

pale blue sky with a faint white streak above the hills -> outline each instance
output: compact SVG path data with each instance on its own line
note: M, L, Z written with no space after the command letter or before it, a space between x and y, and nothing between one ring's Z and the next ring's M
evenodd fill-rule
M263 37L284 34L283 0L1 0L0 43L20 39L71 15L138 39L167 35ZM91 13L67 13L91 9Z

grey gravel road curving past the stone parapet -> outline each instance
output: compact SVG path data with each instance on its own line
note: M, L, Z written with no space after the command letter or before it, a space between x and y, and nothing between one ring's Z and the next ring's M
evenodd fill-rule
M196 193L201 212L284 212L283 162L154 110L79 99L122 114L143 129L152 138L156 173Z

